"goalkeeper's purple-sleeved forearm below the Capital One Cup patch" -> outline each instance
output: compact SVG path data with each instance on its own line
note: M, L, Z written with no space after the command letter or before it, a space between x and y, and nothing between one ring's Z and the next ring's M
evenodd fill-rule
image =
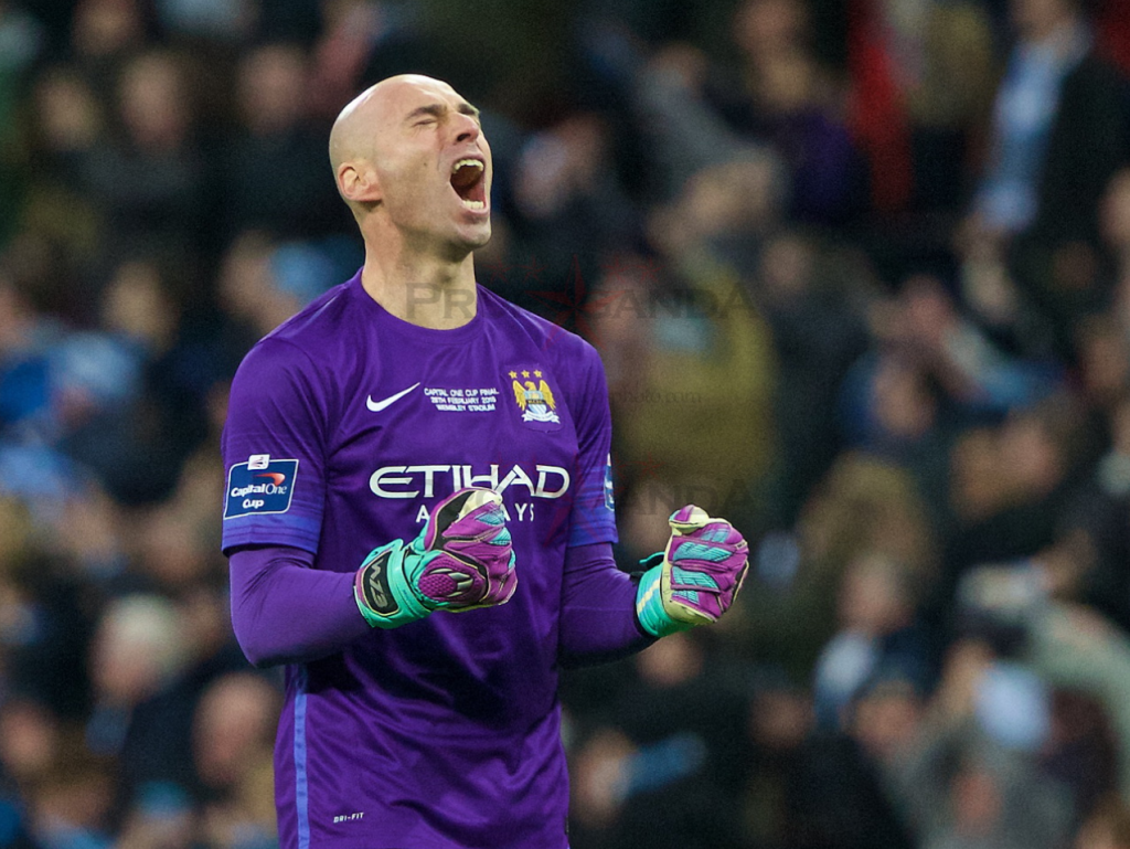
M312 569L301 548L237 548L231 556L232 626L255 666L332 655L371 632L354 600L354 573Z

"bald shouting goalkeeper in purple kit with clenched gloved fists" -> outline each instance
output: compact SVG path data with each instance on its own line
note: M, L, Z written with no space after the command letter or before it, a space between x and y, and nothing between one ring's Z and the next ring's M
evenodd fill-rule
M365 265L262 339L223 451L232 616L286 665L284 849L565 849L562 666L721 616L746 543L686 506L618 571L596 350L476 285L490 148L393 77L330 135Z

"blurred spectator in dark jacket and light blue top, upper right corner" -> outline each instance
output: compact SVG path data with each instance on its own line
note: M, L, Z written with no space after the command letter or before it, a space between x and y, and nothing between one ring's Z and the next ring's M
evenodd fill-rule
M965 227L967 255L1006 255L1055 349L1094 303L1098 203L1125 162L1125 103L1077 0L1012 0L1017 33L997 94L989 159ZM982 292L971 292L974 303Z

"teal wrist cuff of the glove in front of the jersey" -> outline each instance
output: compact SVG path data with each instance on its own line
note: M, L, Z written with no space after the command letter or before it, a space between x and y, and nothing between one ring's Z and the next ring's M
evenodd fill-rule
M420 603L408 572L419 574L436 556L437 552L419 553L399 539L370 552L354 581L354 600L365 622L372 627L400 627L432 613Z

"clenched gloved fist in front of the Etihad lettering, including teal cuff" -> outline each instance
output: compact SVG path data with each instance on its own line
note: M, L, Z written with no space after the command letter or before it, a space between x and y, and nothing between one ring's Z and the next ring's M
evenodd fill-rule
M398 627L433 610L471 610L510 600L518 586L502 496L471 487L447 496L411 543L373 549L354 597L374 627Z

